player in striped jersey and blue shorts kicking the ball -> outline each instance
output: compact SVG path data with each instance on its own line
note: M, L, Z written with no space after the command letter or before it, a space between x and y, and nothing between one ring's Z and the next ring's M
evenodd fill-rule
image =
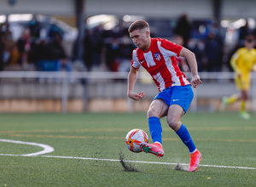
M158 157L164 156L160 118L167 116L168 125L189 148L189 172L195 172L201 161L201 153L196 149L187 127L180 122L194 94L189 81L177 66L175 58L183 56L188 60L192 72L191 84L196 88L201 84L201 79L197 71L195 54L166 39L150 37L149 26L145 20L133 22L128 31L132 42L137 46L132 52L131 70L128 75L128 97L134 100L144 97L143 92L133 91L140 66L148 71L160 92L148 109L149 132L154 144L143 143L141 148L146 153Z

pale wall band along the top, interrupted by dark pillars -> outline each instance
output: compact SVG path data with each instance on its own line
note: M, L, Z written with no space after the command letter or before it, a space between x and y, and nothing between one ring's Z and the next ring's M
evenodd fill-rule
M73 15L74 0L0 0L0 14L32 13ZM212 0L84 0L86 15L134 14L154 17L177 17L187 13L191 18L212 18ZM224 19L256 18L256 0L222 0Z

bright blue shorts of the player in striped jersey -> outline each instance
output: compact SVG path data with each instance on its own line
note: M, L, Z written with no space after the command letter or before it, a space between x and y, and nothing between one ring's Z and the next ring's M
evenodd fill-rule
M194 93L191 86L186 85L166 88L157 94L154 99L163 99L169 107L171 105L180 105L187 112L193 97Z

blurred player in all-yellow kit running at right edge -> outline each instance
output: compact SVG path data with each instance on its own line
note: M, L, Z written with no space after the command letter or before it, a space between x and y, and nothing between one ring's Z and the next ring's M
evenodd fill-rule
M253 35L248 35L245 38L245 47L239 48L235 54L233 54L230 59L230 65L235 71L235 81L236 88L241 91L241 94L233 94L230 97L224 97L221 110L234 103L241 100L241 109L239 116L243 119L250 119L250 114L246 111L246 102L248 98L248 90L250 88L250 71L256 70L256 49L254 48L254 37Z

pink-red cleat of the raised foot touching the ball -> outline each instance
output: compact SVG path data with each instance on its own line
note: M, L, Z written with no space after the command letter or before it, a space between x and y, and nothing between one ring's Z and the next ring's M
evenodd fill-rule
M154 144L142 143L140 144L140 146L145 153L151 153L159 158L165 155L165 152L162 146L158 143L154 143Z

